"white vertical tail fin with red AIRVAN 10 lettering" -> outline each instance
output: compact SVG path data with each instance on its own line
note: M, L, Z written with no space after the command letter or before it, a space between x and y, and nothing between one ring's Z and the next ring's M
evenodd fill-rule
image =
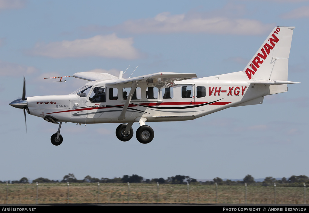
M275 27L273 29L243 70L249 80L287 80L294 28ZM282 86L286 87L286 85ZM284 89L283 87L281 89Z

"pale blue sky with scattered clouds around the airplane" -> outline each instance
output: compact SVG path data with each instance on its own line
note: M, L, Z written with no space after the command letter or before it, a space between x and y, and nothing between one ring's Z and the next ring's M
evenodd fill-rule
M309 176L309 1L0 0L0 180L90 175L211 180ZM9 106L22 97L69 94L86 80L45 77L156 72L198 77L242 71L275 26L294 26L287 93L181 122L146 123L153 141L116 138L119 124L58 125ZM139 127L133 124L133 130ZM183 129L186 129L184 132Z

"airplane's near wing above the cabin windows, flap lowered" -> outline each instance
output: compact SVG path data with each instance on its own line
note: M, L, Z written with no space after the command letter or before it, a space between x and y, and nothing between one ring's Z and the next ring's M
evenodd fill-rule
M196 78L195 73L178 73L178 72L157 72L146 76L138 76L134 78L122 79L116 84L133 84L138 83L148 86L155 86L158 89L176 86L174 81Z

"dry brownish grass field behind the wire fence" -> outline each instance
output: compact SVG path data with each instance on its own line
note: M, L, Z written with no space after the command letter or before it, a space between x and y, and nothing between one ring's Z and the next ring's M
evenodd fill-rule
M307 184L308 187L308 184ZM306 185L159 183L0 184L0 203L306 204Z

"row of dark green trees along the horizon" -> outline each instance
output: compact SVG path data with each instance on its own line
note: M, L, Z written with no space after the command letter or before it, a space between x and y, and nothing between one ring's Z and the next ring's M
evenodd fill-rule
M0 181L1 183L5 183ZM43 178L43 177L39 177L35 180L32 180L32 183L96 183L96 182L100 182L100 183L197 183L198 181L194 178L190 178L190 176L184 176L184 175L176 175L176 176L171 176L168 177L167 179L164 179L162 177L160 178L153 178L153 179L144 179L142 176L138 176L138 175L124 175L122 178L121 177L115 177L113 179L109 179L109 178L105 178L102 177L101 179L99 178L95 178L95 177L91 177L89 175L87 175L83 180L78 180L74 174L68 174L66 176L63 177L63 179L61 181L59 180L49 180L47 178ZM201 182L201 181L199 181ZM12 181L8 181L8 183L29 183L28 178L23 177L20 180L12 180ZM295 176L292 175L290 178L286 178L283 177L281 180L277 180L276 178L273 177L266 177L264 179L264 181L262 182L256 182L254 180L254 178L251 175L246 175L243 180L237 180L237 181L232 181L232 180L222 180L219 177L214 178L212 181L205 181L202 182L205 184L215 184L217 183L218 185L222 185L222 184L257 184L257 185L262 185L262 186L271 186L274 185L274 183L277 184L308 184L309 185L309 178L305 175L299 175L299 176Z

